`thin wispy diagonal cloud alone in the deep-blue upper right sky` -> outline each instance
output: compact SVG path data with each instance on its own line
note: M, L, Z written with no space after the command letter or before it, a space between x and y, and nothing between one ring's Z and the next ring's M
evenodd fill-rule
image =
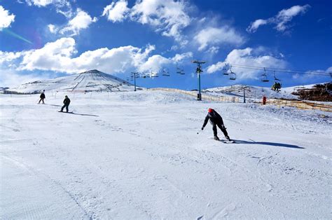
M275 24L275 29L277 29L278 32L284 32L289 28L287 23L291 22L293 17L306 13L309 8L310 5L306 4L305 6L293 6L291 8L282 9L282 11L279 11L279 13L272 18L266 20L258 19L251 22L249 27L247 27L247 32L254 33L257 31L258 27L267 24Z

